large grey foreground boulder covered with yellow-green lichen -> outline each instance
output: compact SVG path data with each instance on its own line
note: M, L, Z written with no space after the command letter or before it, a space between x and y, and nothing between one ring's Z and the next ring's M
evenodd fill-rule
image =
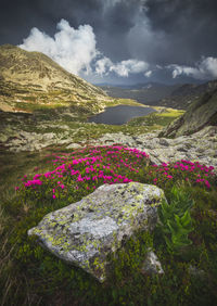
M107 255L138 230L153 230L164 197L155 186L104 184L81 201L46 215L28 234L102 282L110 264Z

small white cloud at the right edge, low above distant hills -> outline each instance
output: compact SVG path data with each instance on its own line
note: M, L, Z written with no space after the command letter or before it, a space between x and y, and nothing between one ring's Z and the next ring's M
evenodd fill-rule
M187 75L196 79L212 79L217 77L217 59L216 58L202 58L194 67L169 65L167 68L173 69L173 78L180 75Z

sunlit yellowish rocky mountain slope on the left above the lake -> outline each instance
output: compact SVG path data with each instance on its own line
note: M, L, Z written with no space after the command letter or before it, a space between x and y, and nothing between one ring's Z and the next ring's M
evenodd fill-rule
M0 110L82 104L94 112L107 99L102 89L69 74L40 52L0 46Z

